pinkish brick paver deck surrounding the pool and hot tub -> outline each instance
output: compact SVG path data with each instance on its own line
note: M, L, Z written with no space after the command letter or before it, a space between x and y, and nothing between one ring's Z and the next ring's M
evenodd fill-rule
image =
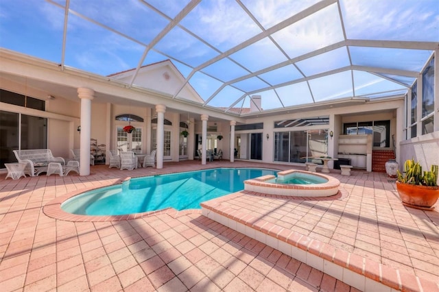
M212 167L303 169L223 160L0 174L1 291L439 291L438 210L403 206L385 173L331 170L341 182L333 197L241 191L203 211L84 219L56 206L127 177Z

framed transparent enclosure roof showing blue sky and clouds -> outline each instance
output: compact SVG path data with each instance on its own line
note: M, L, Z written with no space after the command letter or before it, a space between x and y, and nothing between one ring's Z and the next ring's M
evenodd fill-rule
M404 95L439 49L437 0L0 2L5 49L98 75L170 59L202 106ZM174 98L179 98L179 91ZM235 113L235 112L234 112Z

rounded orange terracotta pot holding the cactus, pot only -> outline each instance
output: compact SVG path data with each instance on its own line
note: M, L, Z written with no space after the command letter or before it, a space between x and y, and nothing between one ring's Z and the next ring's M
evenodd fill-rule
M418 186L396 182L399 197L406 206L432 208L439 198L439 186Z

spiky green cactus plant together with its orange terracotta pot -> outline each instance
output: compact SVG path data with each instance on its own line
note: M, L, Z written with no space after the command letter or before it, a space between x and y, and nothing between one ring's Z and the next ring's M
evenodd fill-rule
M431 165L429 171L423 171L419 162L406 160L405 175L396 171L396 189L405 206L422 210L433 210L439 198L438 165Z

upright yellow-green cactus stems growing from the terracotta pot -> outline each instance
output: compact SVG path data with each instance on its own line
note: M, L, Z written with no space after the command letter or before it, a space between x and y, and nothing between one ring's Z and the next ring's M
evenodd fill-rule
M416 184L420 186L438 186L438 165L431 165L430 171L423 171L419 162L414 160L405 160L404 172L397 170L398 181L405 184Z

